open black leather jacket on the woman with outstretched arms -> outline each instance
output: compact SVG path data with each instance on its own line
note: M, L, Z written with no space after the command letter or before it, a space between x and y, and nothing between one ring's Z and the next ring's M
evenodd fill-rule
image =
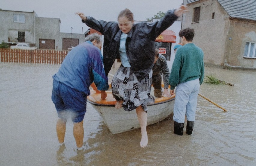
M168 10L166 15L156 22L140 22L134 24L126 38L126 54L134 74L140 81L154 66L154 41L178 18L173 14L174 10ZM116 58L119 58L121 30L117 22L105 22L87 16L82 20L88 27L99 31L104 35L103 63L105 73L108 75Z

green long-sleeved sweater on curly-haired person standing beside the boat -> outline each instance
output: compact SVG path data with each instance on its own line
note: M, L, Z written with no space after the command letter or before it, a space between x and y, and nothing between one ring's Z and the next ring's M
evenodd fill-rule
M200 85L203 83L204 63L203 51L194 43L187 43L177 49L172 70L169 77L171 89L179 83L199 78Z

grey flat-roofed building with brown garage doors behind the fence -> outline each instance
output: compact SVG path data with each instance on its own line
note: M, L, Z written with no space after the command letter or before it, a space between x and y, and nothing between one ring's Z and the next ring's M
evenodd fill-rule
M35 11L0 10L0 41L26 42L37 48L67 50L84 42L85 34L61 33L58 18L38 17Z

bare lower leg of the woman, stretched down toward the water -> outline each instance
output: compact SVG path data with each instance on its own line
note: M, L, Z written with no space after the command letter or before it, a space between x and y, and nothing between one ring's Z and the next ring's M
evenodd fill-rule
M148 122L148 115L142 108L142 106L138 106L136 108L136 113L139 120L139 125L141 128L141 141L140 147L146 147L148 145L148 134L147 134L147 122Z

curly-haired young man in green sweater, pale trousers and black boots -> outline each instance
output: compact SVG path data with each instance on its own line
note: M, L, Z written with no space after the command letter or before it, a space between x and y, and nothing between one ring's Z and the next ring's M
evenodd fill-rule
M186 133L192 134L197 108L197 95L203 83L203 51L192 40L195 32L186 28L179 32L183 46L177 49L169 77L170 94L176 97L173 109L174 133L183 135L184 119L187 116Z

